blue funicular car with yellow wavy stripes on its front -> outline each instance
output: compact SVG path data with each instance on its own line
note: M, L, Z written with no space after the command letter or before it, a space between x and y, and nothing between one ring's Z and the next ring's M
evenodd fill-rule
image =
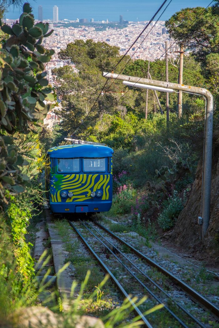
M113 150L85 139L65 138L68 144L56 145L47 152L45 180L52 213L110 210Z

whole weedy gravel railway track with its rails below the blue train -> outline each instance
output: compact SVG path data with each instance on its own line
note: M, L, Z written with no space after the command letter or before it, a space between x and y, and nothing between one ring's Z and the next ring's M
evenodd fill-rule
M219 308L119 236L96 221L92 221L92 224L81 220L69 223L122 295L132 303L146 327L154 324L157 327L206 328L208 325L203 324L203 316L208 316L209 321L217 324L215 317L219 318ZM154 279L147 275L151 267L157 270ZM155 280L159 280L159 283ZM179 292L179 289L183 292ZM176 299L175 293L181 293L184 301ZM148 300L136 306L130 294L138 298L147 295ZM144 313L158 304L164 304L164 307L146 318ZM158 325L162 321L162 325Z

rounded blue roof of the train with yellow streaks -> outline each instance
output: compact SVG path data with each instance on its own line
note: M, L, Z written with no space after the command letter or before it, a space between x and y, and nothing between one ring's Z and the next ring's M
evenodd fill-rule
M111 157L113 149L101 144L72 144L50 148L47 154L55 158L72 158L72 157Z

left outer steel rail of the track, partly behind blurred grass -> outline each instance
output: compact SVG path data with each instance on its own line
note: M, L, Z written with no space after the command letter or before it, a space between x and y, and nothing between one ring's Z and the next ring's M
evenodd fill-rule
M111 279L113 280L113 282L115 283L115 285L118 287L118 289L120 290L120 292L124 295L124 297L126 297L129 302L132 304L135 312L139 315L140 318L142 318L145 327L147 328L153 328L151 326L151 324L149 323L149 321L144 317L144 315L142 314L142 312L139 310L139 308L135 305L135 303L132 301L132 299L130 298L130 296L126 293L126 291L124 290L124 288L121 286L121 284L119 283L119 281L116 279L116 277L112 274L112 272L107 268L107 266L103 263L103 261L99 258L99 256L94 252L94 250L90 247L90 245L87 243L87 241L84 239L84 237L80 234L80 232L77 230L77 228L74 226L74 224L69 221L69 224L73 227L73 229L76 231L77 235L79 236L79 238L82 240L82 242L84 243L84 245L88 248L88 250L90 251L90 253L97 259L97 261L99 262L99 265L102 267L102 269L108 273L111 277Z

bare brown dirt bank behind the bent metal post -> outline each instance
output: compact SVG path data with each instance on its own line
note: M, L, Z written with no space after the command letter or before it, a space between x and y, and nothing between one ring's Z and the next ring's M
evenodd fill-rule
M192 192L173 230L171 241L200 259L219 263L219 133L213 141L211 207L208 231L203 241L199 240L198 216L201 208L202 163L199 163Z

